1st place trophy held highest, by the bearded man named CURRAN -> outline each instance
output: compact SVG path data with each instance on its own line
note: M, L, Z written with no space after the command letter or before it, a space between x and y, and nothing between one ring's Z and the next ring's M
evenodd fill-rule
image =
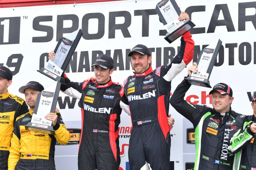
M195 26L191 20L178 20L181 11L175 0L161 0L157 3L156 11L167 30L164 39L169 43L174 42L178 37Z

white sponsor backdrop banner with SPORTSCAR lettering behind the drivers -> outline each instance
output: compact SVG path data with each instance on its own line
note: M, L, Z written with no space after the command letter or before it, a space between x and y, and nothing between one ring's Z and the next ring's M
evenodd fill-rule
M123 83L132 75L128 53L137 44L148 46L152 53L152 67L170 62L177 54L180 38L172 44L164 40L166 31L155 11L159 0L127 0L121 2L84 3L59 6L34 6L2 8L0 16L0 65L8 66L14 74L11 94L31 80L47 88L54 83L36 70L44 67L48 53L65 35L81 29L83 36L76 48L67 76L82 82L93 76L90 66L99 54L110 54L115 62L112 74L114 82ZM252 114L250 99L256 91L254 70L256 65L256 2L250 0L191 1L177 0L181 11L186 11L195 28L194 59L202 48L220 39L222 45L209 79L213 86L219 82L230 85L234 101L232 109L243 114ZM189 63L189 66L192 62ZM187 75L185 68L173 81L172 92ZM210 88L192 86L185 99L200 105L211 106ZM68 145L57 145L55 164L57 169L76 170L79 138L81 132L81 110L78 100L60 93L57 107L71 133ZM193 169L195 158L194 131L192 124L170 107L175 118L171 130L172 147L170 166L172 169ZM120 170L129 170L128 144L131 134L131 119L121 114L119 126Z

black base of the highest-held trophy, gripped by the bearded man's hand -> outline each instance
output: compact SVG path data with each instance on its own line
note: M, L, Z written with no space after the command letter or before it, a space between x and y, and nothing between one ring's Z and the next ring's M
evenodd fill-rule
M184 33L189 31L191 28L195 26L191 20L186 20L181 26L179 26L175 31L170 31L166 34L164 39L169 42L170 44L174 42L177 38L182 36Z

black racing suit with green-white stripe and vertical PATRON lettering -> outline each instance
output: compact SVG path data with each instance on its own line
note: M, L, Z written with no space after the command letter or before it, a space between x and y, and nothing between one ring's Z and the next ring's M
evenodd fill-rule
M184 100L190 88L183 80L175 89L170 103L195 128L194 170L232 170L234 155L228 151L228 137L233 120L239 113L230 110L225 116L206 105L194 105Z

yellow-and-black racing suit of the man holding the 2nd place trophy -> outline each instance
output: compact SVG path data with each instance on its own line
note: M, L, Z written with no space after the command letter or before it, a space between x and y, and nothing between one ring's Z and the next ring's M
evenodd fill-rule
M29 110L17 117L14 124L8 170L55 170L54 152L56 140L60 144L67 144L70 133L61 118L57 114L57 123L53 126L55 135L34 132L25 129L25 125L31 122L34 111Z

